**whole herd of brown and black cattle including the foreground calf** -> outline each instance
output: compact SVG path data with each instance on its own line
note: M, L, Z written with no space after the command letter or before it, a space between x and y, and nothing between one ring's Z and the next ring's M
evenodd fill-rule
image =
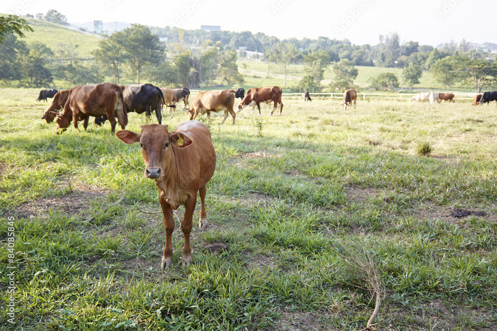
M246 106L257 106L260 115L260 103L274 102L271 115L279 106L279 114L283 110L281 101L282 89L278 86L250 88L245 94L243 88L238 90L212 90L198 92L191 105L187 88L159 88L152 84L131 84L119 86L112 83L90 84L75 86L69 90L40 93L38 100L53 97L52 104L43 113L47 123L55 120L57 132L66 130L71 121L78 129L78 122L83 121L86 129L89 117L95 117L95 123L108 120L111 132L114 132L117 122L122 130L116 136L127 144L138 142L145 163L145 177L153 179L159 190L159 201L164 215L166 243L164 245L161 267L167 268L172 260L172 232L174 229L173 210L184 205L184 215L180 224L184 234L182 264L191 262L190 232L192 229L193 212L197 193L200 197L199 227L207 227L207 211L205 208L206 184L216 168L216 152L212 143L209 129L202 123L194 121L198 114L224 111L223 124L231 114L235 124L235 99L242 101L237 106L237 113ZM55 91L55 92L54 92ZM49 96L51 95L51 96ZM305 101L312 101L309 92L303 94ZM411 101L429 100L431 103L446 100L454 102L454 94L424 92L417 93ZM176 107L183 100L190 121L181 123L173 131L167 125L162 125L162 107ZM352 106L357 100L357 92L348 89L343 94L343 106ZM474 104L497 100L497 91L485 92L475 97ZM189 106L186 108L186 106ZM156 112L159 124L142 125L141 132L125 130L128 124L129 112L146 113L150 117Z

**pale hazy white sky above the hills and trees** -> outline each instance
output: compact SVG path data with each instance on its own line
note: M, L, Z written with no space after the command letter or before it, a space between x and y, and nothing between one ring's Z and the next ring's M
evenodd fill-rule
M356 45L397 32L401 43L497 43L497 0L2 0L1 13L45 14L70 23L101 20L198 29L263 32L280 39L347 38Z

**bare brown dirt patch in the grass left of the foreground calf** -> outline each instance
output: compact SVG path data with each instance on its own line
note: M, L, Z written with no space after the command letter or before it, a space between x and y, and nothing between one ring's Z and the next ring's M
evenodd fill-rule
M49 210L61 210L66 214L76 214L88 209L92 199L107 195L108 190L95 185L81 184L64 196L36 199L23 203L16 208L16 213L18 217L24 218L48 218Z

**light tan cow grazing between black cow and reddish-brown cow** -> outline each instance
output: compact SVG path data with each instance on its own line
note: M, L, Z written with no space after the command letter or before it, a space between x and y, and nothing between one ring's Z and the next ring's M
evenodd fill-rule
M233 124L235 124L235 112L233 106L235 105L235 91L234 90L212 90L205 92L198 92L193 98L193 102L188 109L190 120L194 120L198 113L201 115L207 113L207 118L210 122L211 112L220 112L224 110L224 119L221 124L228 118L228 112L233 117Z

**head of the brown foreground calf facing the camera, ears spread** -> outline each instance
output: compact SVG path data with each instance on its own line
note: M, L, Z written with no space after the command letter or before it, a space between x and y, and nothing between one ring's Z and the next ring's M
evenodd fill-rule
M162 180L169 171L174 148L183 148L193 141L181 132L168 132L167 125L142 125L141 132L120 130L116 136L127 144L140 143L145 178Z

